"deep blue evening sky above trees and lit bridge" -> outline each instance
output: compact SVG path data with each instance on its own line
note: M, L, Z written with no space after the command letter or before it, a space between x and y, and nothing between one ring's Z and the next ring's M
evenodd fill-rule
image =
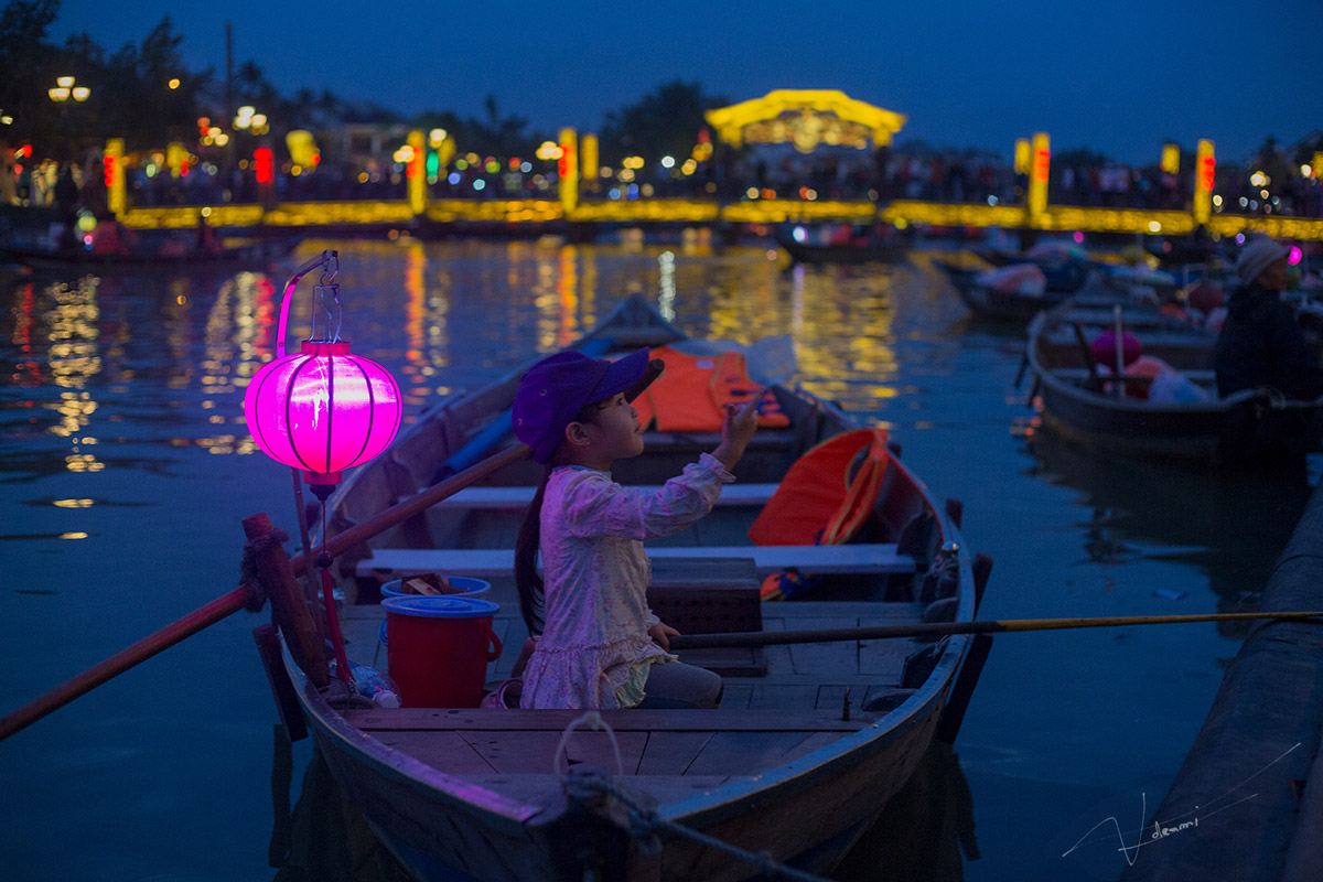
M1082 8L1086 7L1086 8ZM909 115L900 140L983 147L1052 136L1129 163L1212 138L1220 159L1323 128L1318 0L943 3L304 4L66 0L49 36L114 52L169 15L192 69L253 58L284 94L307 86L406 114L499 112L595 128L663 82L745 100L840 89Z

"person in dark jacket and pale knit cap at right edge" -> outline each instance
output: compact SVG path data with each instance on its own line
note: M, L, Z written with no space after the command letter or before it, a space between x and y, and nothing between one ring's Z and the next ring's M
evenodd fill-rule
M1222 398L1244 390L1267 390L1274 398L1311 399L1323 395L1323 365L1295 321L1295 312L1282 303L1289 276L1290 249L1269 238L1257 238L1241 249L1236 275L1241 288L1226 304L1213 370ZM1249 415L1246 407L1246 417ZM1249 421L1246 421L1249 422ZM1258 460L1303 456L1318 443L1318 421L1308 411L1267 411L1237 444L1238 454Z

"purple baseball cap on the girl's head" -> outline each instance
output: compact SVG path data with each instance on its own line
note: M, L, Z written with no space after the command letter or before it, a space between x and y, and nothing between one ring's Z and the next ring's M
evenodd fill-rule
M533 459L545 463L585 406L620 393L634 401L659 373L662 360L650 362L647 349L617 361L574 350L548 356L519 381L511 413L515 436L533 448Z

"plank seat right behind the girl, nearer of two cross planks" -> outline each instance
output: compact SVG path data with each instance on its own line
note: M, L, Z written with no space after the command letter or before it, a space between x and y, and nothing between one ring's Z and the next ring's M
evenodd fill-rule
M654 561L663 558L751 558L759 577L799 569L811 574L913 573L914 558L897 554L894 543L859 545L717 545L648 547ZM386 570L398 575L445 573L483 579L515 571L513 549L373 549L359 561L359 575Z

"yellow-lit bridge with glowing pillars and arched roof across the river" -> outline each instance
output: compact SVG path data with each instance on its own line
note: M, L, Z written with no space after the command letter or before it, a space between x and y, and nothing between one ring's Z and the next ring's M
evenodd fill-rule
M762 98L708 111L708 123L729 147L791 144L808 153L822 144L880 149L905 124L902 114L873 107L831 90L777 90ZM1213 144L1199 141L1192 208L1146 210L1081 208L1048 202L1050 143L1035 134L1016 144L1016 171L1027 180L1024 205L983 205L896 200L884 205L867 200L787 200L644 197L590 201L585 179L597 175L597 138L572 128L560 134L557 198L433 198L423 172L427 141L422 131L409 134L407 198L394 201L267 202L128 208L124 192L123 141L106 147L110 209L136 229L183 229L198 217L212 226L274 229L390 227L433 231L472 229L558 230L587 238L603 225L732 226L782 222L889 222L898 227L1002 227L1043 231L1130 233L1163 237L1192 234L1203 225L1212 235L1258 231L1277 238L1323 241L1323 220L1289 216L1232 214L1215 210ZM581 161L582 159L582 161ZM1179 160L1179 155L1177 155ZM1164 156L1164 167L1168 163ZM582 171L582 177L581 177ZM757 193L757 190L753 190Z

